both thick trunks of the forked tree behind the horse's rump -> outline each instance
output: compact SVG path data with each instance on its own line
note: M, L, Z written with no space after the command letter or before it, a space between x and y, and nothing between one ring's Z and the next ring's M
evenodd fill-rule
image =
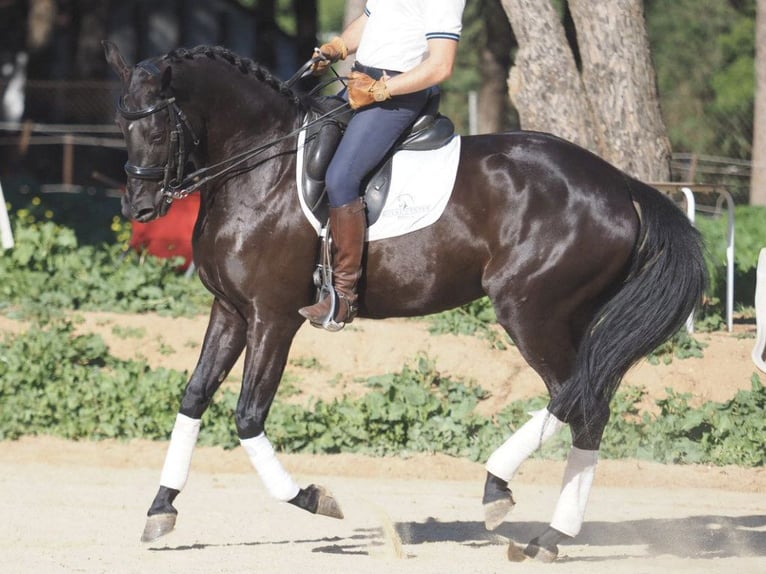
M519 52L509 90L525 129L550 131L648 181L670 176L642 0L569 0L582 74L550 0L503 0Z

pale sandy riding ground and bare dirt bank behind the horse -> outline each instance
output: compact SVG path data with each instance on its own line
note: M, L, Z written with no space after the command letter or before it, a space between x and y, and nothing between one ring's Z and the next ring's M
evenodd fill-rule
M111 351L153 366L191 370L206 317L86 314ZM0 319L0 333L23 325ZM755 327L699 335L704 359L641 364L626 384L653 398L666 387L723 401L750 386ZM301 394L361 392L360 377L394 372L419 352L453 378L491 392L484 412L543 392L517 351L481 339L431 336L422 321L358 320L337 334L305 327L288 365ZM237 384L241 367L230 379ZM175 409L175 405L168 408ZM176 530L138 539L157 488L165 443L0 442L0 571L321 573L766 572L766 469L602 461L578 538L553 565L512 563L509 541L526 543L553 512L563 465L530 460L512 485L517 506L484 530L479 464L445 456L366 458L282 455L301 484L332 490L344 520L315 517L265 493L240 449L201 448L176 501Z

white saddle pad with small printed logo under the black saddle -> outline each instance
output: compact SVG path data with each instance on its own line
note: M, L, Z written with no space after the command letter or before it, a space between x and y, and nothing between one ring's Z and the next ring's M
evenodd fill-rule
M298 138L298 197L306 218L321 235L322 226L306 205L301 189L305 133L302 131ZM380 217L367 229L367 240L396 237L435 223L452 195L459 159L460 136L439 149L396 152L388 197Z

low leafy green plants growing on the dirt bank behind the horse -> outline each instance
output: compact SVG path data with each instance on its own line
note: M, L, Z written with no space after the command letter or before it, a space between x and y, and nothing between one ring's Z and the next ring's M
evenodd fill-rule
M749 213L743 220L747 220ZM38 214L40 215L40 214ZM754 216L757 217L757 213ZM75 334L78 310L123 310L192 315L206 312L210 296L196 279L175 272L175 262L124 253L119 242L80 246L71 229L42 213L14 216L19 247L0 257L0 313L24 317L31 328L0 341L0 440L52 434L70 439L166 439L188 374L151 369L141 360L112 356L100 336ZM715 225L712 226L715 228ZM749 229L749 228L748 228ZM763 243L763 230L753 225ZM124 229L117 228L118 234ZM74 314L73 314L74 312ZM433 319L435 332L484 334L498 347L510 344L488 326L486 300ZM650 360L700 356L702 345L685 333L657 349ZM693 359L690 359L693 360ZM287 374L289 376L289 373ZM285 451L401 454L439 451L482 460L497 437L526 421L545 398L517 401L494 417L478 415L487 397L480 387L442 377L428 357L366 381L362 397L343 396L309 405L277 400L268 432ZM281 397L290 393L283 385ZM725 403L692 406L691 396L669 390L645 406L641 388L626 388L602 453L660 462L766 463L766 389L752 388ZM201 442L234 447L236 394L222 390L206 413ZM563 457L566 433L541 456Z

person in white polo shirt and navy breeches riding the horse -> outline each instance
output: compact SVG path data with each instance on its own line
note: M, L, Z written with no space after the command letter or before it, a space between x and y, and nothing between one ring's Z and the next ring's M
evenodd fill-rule
M347 88L356 113L325 178L340 301L332 319L340 326L357 311L367 230L362 180L417 119L429 88L452 75L464 7L465 0L367 0L364 13L319 48L324 59L314 65L315 74L349 54L357 58ZM322 325L331 308L332 297L325 297L299 312Z

